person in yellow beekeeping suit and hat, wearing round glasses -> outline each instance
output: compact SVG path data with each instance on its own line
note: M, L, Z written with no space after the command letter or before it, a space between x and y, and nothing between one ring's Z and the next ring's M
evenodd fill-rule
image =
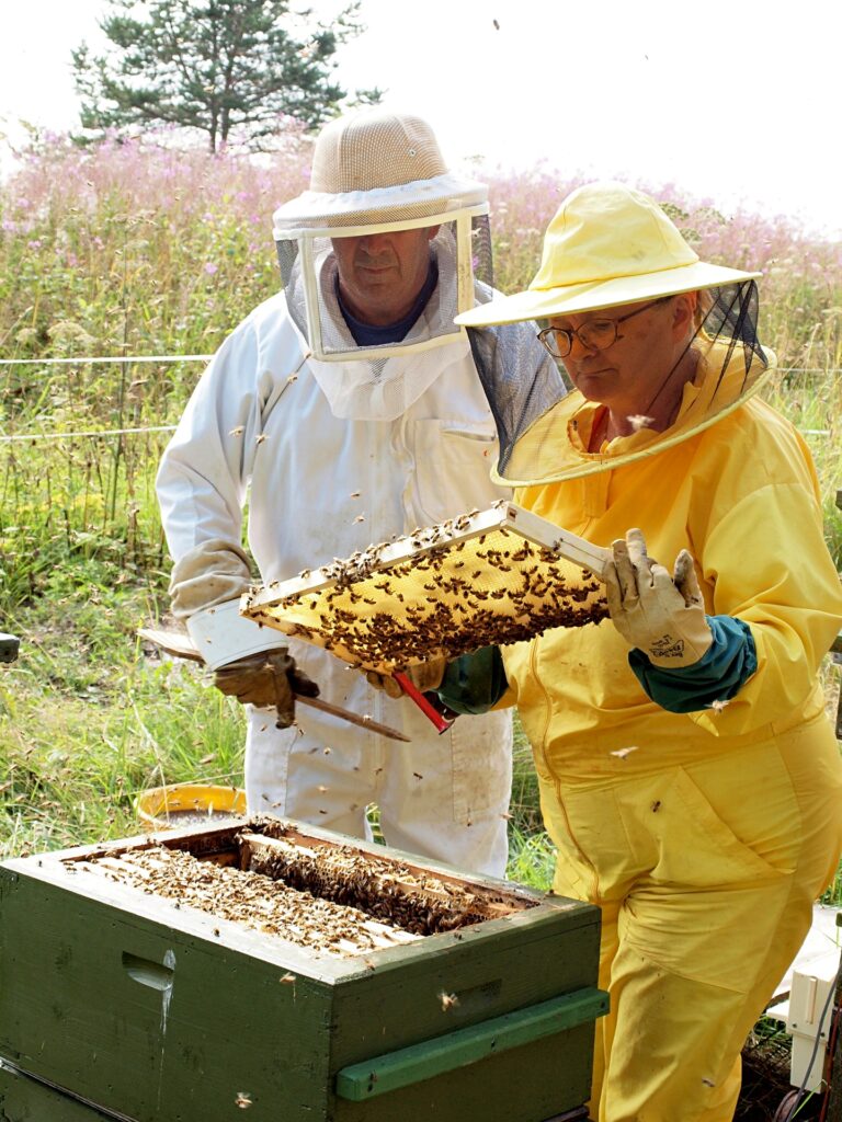
M699 261L639 192L594 184L561 204L527 292L460 316L549 321L577 392L523 432L496 403L497 476L613 546L611 620L503 655L555 889L602 909L601 1122L732 1118L741 1046L840 852L817 668L842 595L809 453L753 396L774 356L752 276Z

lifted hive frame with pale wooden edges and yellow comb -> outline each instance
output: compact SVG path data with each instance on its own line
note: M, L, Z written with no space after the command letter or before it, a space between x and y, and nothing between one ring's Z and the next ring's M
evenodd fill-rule
M505 553L491 546L483 553L479 546L489 536L496 541L496 535L520 544ZM489 643L531 638L549 626L566 625L579 603L596 606L594 622L598 622L607 609L598 608L604 601L596 580L589 592L577 595L580 589L565 590L559 574L567 563L568 570L579 567L601 578L608 557L608 550L501 499L486 511L415 530L291 580L253 589L241 598L240 613L327 647L359 669L392 673L430 657L455 657ZM418 576L425 567L434 569L433 583ZM465 576L458 574L463 568ZM515 604L519 610L504 611L501 605L495 615L488 599L509 596L515 585L522 597ZM468 604L474 597L477 610L469 611L460 595ZM478 607L481 601L488 606ZM567 616L565 606L570 609ZM465 619L459 628L457 611L472 616L470 627ZM504 631L504 624L514 619L523 622L515 632ZM433 646L420 637L432 638Z

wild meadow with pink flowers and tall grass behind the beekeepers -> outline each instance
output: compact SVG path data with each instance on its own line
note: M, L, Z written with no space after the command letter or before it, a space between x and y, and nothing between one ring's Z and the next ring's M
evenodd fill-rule
M271 214L308 175L295 135L260 163L46 137L0 184L0 631L21 637L18 662L0 666L3 855L136 833L134 797L148 787L241 779L236 705L149 656L135 631L167 607L154 473L195 356L276 289ZM477 175L491 186L495 283L512 291L578 181L540 167ZM640 185L705 259L762 270L761 338L779 358L765 394L811 444L842 567L842 245ZM92 361L115 357L130 360ZM838 678L829 662L834 709ZM552 854L522 743L512 812L511 875L546 885Z

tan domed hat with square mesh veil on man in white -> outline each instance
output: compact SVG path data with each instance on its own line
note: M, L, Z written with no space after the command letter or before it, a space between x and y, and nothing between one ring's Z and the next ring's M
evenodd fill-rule
M290 312L314 360L374 362L369 374L379 378L384 360L457 340L464 344L465 329L454 321L474 306L475 263L476 278L493 284L487 214L485 185L448 171L421 118L377 108L327 125L313 150L310 190L274 214ZM413 287L423 259L413 239L399 239L408 231L427 232L432 261L427 284L419 280L415 306ZM339 238L358 239L360 245L340 249ZM355 305L351 295L360 284L357 268L366 268L366 238L384 247L385 267L394 268L394 280L382 280L379 293L374 292L376 285L367 288L361 282L357 292L363 296L355 295ZM406 256L399 240L409 246ZM434 269L436 286L427 305L419 307ZM393 310L393 320L384 318ZM351 315L358 318L356 324ZM367 330L375 325L386 330Z

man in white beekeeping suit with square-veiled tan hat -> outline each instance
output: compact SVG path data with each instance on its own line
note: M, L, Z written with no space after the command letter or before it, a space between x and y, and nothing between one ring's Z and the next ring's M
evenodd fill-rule
M447 169L418 117L369 109L330 122L310 190L274 215L284 291L219 349L157 487L173 611L214 683L247 708L249 812L366 837L376 803L390 845L503 875L509 714L457 719L440 736L397 689L238 614L254 579L247 498L248 545L269 582L506 494L488 478L498 434L565 390L533 325L454 325L492 295L473 267L491 263L486 215L486 188ZM292 690L313 682L411 743L310 707L292 725Z

